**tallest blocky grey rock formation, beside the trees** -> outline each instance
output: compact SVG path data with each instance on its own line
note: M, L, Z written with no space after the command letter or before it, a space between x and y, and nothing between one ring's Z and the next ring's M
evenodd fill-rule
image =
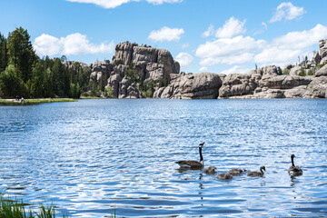
M180 66L165 49L124 42L116 45L113 61L90 64L90 80L105 86L111 97L152 97L153 90L170 83ZM109 90L109 91L108 91Z

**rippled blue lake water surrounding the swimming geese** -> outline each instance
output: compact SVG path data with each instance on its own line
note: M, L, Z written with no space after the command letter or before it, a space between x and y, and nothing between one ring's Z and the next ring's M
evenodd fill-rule
M0 106L0 193L58 217L327 217L327 101L80 100ZM263 177L182 171L199 160ZM303 175L287 173L290 155Z

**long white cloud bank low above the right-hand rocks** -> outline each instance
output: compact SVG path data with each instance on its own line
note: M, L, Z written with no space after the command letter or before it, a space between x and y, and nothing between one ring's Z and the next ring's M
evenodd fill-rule
M316 25L310 30L290 32L267 42L250 36L220 38L199 45L196 55L204 67L214 64L295 64L298 56L312 57L314 46L327 38L327 26Z

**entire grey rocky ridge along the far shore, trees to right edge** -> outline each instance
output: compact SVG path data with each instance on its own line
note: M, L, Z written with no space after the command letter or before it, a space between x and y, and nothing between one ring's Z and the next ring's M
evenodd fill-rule
M112 62L95 62L92 83L99 96L115 98L326 98L327 39L312 61L256 68L247 74L185 74L165 49L129 42L116 45ZM68 67L74 62L67 62Z

